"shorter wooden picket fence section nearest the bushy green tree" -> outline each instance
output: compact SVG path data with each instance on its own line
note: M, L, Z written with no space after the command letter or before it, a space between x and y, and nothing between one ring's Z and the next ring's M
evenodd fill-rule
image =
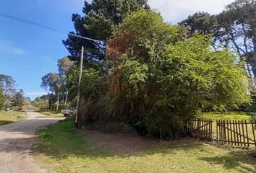
M213 138L213 120L192 118L187 123L187 130L189 136L194 138L201 138L205 140L212 140Z

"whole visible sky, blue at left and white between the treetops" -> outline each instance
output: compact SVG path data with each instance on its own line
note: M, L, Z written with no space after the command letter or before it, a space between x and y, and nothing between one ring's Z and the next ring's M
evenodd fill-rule
M176 24L195 12L218 14L233 1L149 0L148 4L166 22ZM83 4L84 0L1 0L0 13L68 33L74 30L72 14L82 14ZM40 87L41 77L56 72L58 59L69 55L62 44L67 35L1 16L0 24L0 74L12 76L17 90L23 89L31 99L47 94Z

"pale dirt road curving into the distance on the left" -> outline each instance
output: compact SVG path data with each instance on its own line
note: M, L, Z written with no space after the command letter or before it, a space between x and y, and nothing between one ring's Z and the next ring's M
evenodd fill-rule
M40 173L41 169L30 156L35 132L59 119L27 112L28 118L22 122L0 125L0 172Z

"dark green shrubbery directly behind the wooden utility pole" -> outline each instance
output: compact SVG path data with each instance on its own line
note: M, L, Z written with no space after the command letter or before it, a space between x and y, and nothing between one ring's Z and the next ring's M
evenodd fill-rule
M78 88L78 71L70 71L66 80L69 86L69 97L75 102ZM81 102L78 110L81 124L90 123L91 120L98 120L99 117L103 116L103 97L106 90L106 77L103 75L103 71L96 71L93 68L82 71Z

